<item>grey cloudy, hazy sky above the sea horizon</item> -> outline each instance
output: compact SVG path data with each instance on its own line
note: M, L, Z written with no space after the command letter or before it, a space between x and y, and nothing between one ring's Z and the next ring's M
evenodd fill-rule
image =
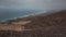
M66 0L0 0L0 9L65 9Z

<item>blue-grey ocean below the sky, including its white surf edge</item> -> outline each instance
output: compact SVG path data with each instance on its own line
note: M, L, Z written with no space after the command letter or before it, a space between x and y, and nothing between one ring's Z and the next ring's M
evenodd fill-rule
M0 22L15 20L15 18L19 18L19 17L26 17L29 15L34 15L38 12L40 11L35 11L35 10L22 10L22 11L0 10Z

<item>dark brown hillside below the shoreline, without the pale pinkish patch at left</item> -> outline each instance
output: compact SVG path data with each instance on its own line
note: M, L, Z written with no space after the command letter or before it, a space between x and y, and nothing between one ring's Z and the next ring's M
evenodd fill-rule
M26 21L31 22L23 25L23 21L25 21L24 23L26 23ZM1 24L14 26L16 24L18 26L21 24L21 27L24 26L24 29L31 30L21 29L20 32L16 32L14 29L6 30L4 28L4 30L2 30L0 28L0 37L66 37L66 10L46 16L41 14L35 16L18 18Z

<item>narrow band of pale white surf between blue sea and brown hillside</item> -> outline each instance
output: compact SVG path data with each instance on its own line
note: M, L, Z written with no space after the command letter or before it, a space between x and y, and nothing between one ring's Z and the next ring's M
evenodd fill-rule
M7 21L12 21L12 20L18 20L18 18L23 18L23 17L28 17L28 16L34 16L34 15L40 15L40 14L43 14L43 13L46 13L47 11L44 11L44 12L36 12L36 13L32 13L32 14L29 14L29 15L23 15L23 16L19 16L19 17L13 17L13 18L7 18L7 20L2 20L0 22L7 22Z

